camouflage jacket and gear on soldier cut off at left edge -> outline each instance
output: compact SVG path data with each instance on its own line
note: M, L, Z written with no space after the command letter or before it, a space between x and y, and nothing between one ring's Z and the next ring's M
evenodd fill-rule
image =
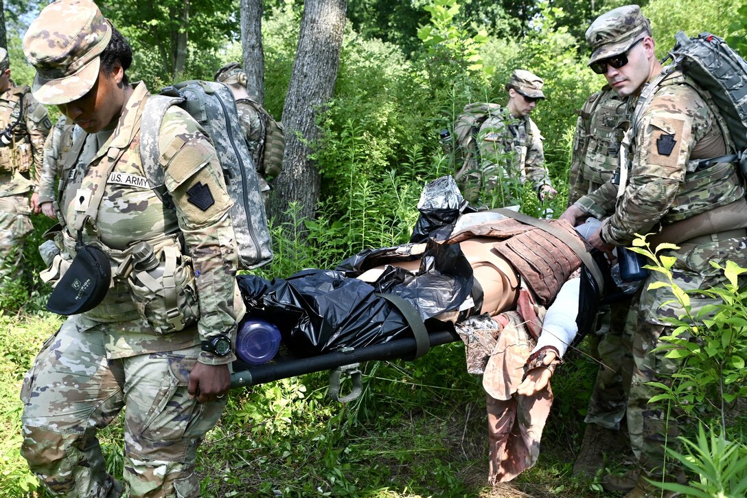
M10 147L0 147L0 197L25 194L34 189L36 181L23 180L28 180L28 172L32 165L38 176L44 141L52 127L46 108L34 99L31 90L25 86L13 86L11 82L10 88L0 94L0 130L16 123L21 109L21 99L23 114L13 129L13 143ZM11 182L10 179L16 172L23 173L24 176L21 178L16 175L15 181Z

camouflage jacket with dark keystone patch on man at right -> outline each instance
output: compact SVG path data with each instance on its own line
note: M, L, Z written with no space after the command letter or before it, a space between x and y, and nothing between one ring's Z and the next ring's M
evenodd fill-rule
M744 196L736 166L692 170L694 159L727 153L720 116L681 73L666 79L637 126L629 182L602 238L625 245L635 233L671 224Z

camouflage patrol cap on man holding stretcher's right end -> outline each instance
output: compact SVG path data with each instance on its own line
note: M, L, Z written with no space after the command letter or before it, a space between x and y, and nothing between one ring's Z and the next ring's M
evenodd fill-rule
M651 33L651 23L638 5L603 13L586 30L586 41L592 48L589 64L627 52L643 33Z

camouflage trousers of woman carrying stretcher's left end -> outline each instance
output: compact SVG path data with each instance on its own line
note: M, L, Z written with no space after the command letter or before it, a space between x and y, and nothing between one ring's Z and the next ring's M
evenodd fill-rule
M226 399L199 404L187 380L199 345L107 359L106 324L72 316L26 374L21 453L63 497L119 497L96 432L125 411L124 480L131 497L199 497L196 449Z

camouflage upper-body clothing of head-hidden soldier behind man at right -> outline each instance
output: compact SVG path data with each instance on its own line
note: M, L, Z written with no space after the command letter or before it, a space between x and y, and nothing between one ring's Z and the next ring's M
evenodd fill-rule
M628 99L608 85L594 93L579 111L568 171L568 205L613 178L620 144L629 126Z

